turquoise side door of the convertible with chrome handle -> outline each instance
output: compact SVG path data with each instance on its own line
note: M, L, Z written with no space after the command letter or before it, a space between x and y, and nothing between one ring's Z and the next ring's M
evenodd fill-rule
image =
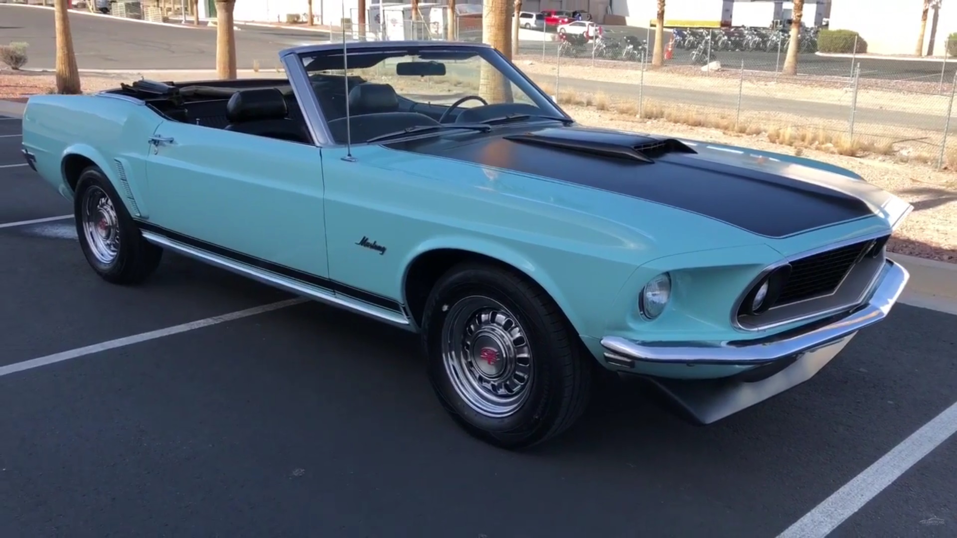
M146 182L151 225L214 254L327 276L319 147L166 121Z

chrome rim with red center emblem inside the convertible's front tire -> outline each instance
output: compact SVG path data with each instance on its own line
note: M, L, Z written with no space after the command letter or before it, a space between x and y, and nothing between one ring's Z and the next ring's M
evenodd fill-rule
M449 309L442 360L456 393L482 415L511 415L528 396L532 354L525 331L491 299L468 297Z

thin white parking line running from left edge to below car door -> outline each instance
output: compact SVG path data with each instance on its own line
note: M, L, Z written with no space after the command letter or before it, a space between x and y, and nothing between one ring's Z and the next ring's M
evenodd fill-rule
M307 301L308 301L307 299L297 298L297 299L289 299L287 301L280 301L278 303L263 304L261 306L255 306L253 308L247 308L245 310L238 310L236 312L230 312L229 314L223 314L222 316L213 316L211 318L206 318L205 320L189 322L188 324L168 326L166 328L151 330L149 332L143 332L140 334L134 334L133 336L126 336L123 338L118 338L116 340L110 340L108 342L101 342L100 344L94 344L92 346L78 347L76 349L70 349L68 351L60 351L59 353L54 353L53 355L47 355L45 357L39 357L36 359L31 359L29 361L23 361L21 363L14 363L11 365L0 367L0 377L3 377L4 375L9 375L17 371L31 370L34 368L39 368L41 366L47 366L54 363L68 361L70 359L76 359L84 355L99 353L100 351L106 351L108 349L116 349L117 347L130 346L132 344L139 344L141 342L146 342L147 340L155 340L157 338L163 338L164 336L170 336L172 334L187 332L189 330L193 330L197 328L202 328L202 327L206 327L210 325L217 325L224 322L231 322L233 320L238 320L241 318L248 318L250 316L256 316L256 314L272 312L273 310L278 310L279 308L285 308L286 306L292 306L294 304L305 303Z

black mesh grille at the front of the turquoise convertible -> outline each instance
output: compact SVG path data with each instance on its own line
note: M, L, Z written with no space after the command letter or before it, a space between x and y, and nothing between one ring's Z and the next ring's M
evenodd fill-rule
M790 263L790 277L774 303L781 306L834 293L855 262L870 249L874 240L861 241L834 250L796 259Z

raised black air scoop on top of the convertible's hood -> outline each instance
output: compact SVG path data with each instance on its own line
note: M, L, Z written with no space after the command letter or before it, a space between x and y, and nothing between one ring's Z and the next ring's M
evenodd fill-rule
M580 127L553 127L502 138L638 163L654 163L654 159L668 153L697 153L690 146L673 138L655 138L622 131Z

